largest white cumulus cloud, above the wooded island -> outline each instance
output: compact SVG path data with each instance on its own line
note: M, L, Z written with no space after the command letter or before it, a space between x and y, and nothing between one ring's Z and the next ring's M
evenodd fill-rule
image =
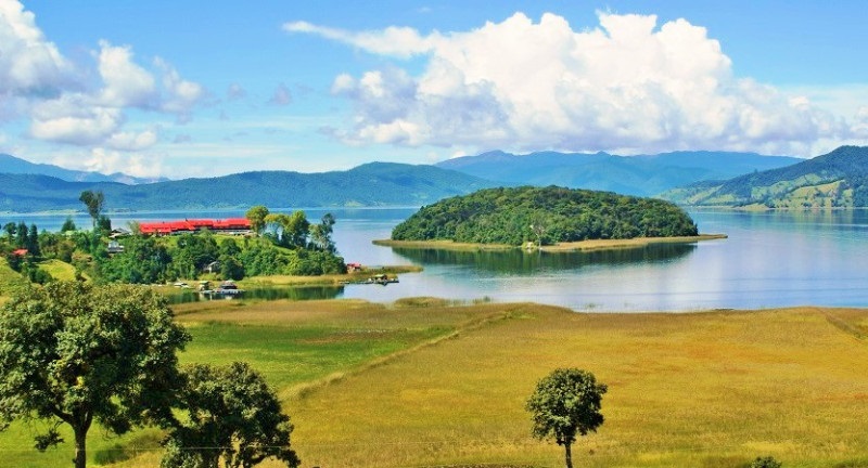
M598 13L599 27L522 13L463 32L354 32L297 22L314 34L396 58L423 54L423 73L396 65L340 75L332 92L355 107L332 133L353 144L641 153L681 148L810 154L853 134L808 100L738 78L705 28L654 15Z

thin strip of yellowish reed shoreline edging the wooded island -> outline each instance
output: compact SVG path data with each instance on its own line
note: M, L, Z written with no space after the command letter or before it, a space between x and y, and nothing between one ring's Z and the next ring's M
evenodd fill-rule
M726 234L700 234L697 236L679 236L679 237L635 237L629 239L590 239L578 240L571 243L560 243L550 246L536 247L534 245L527 250L545 251L545 252L574 252L574 251L592 251L592 250L616 250L616 249L630 249L642 248L652 244L693 244L702 240L725 239ZM383 247L403 247L413 249L443 249L443 250L459 250L459 251L478 251L492 250L502 251L512 249L524 249L522 246L513 246L507 244L472 244L472 243L456 243L452 240L392 240L392 239L375 239L372 244Z

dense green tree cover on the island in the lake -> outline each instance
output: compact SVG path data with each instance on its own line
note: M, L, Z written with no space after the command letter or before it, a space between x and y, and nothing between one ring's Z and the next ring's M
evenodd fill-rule
M693 220L668 202L558 186L488 188L447 198L392 231L395 240L509 245L693 235Z

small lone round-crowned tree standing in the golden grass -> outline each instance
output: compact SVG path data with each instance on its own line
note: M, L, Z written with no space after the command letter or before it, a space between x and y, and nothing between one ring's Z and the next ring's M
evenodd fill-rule
M567 468L573 468L572 445L576 434L596 432L603 424L600 400L608 387L597 384L593 374L576 368L559 368L539 380L527 400L537 439L553 439L564 446Z

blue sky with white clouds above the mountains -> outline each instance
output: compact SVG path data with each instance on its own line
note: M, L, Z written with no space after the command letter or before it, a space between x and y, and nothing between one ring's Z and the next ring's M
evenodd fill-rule
M0 153L169 179L812 157L868 144L866 23L861 0L0 0Z

